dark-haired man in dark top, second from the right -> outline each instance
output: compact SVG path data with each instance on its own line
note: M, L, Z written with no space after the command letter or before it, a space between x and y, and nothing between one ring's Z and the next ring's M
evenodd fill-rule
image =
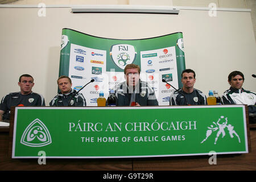
M181 73L181 82L183 87L171 94L170 105L207 105L207 97L194 88L196 73L192 69Z

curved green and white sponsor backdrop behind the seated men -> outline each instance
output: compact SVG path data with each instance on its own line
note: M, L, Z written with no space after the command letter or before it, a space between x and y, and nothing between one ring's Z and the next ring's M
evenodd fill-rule
M67 75L72 88L79 90L88 106L96 106L100 91L108 97L109 90L125 81L123 69L127 64L141 67L141 80L155 90L159 105L169 105L174 89L162 82L165 78L175 88L182 86L180 74L185 69L183 34L148 39L120 40L99 38L63 28L59 76Z

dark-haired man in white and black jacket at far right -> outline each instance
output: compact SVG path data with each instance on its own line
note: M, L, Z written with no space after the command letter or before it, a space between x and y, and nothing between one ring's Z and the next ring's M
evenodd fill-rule
M224 104L247 104L249 114L256 113L256 93L243 89L244 81L245 77L242 72L231 72L228 76L230 88L224 92L222 102Z

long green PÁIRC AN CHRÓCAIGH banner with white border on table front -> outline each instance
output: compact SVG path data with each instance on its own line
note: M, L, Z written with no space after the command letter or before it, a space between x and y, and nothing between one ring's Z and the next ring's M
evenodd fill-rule
M16 107L13 158L242 154L245 115L243 105Z

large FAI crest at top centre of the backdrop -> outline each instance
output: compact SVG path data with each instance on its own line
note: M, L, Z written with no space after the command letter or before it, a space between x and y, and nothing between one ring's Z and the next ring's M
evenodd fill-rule
M112 61L121 69L125 69L127 64L135 61L137 52L134 46L129 44L116 44L110 48L110 57Z

